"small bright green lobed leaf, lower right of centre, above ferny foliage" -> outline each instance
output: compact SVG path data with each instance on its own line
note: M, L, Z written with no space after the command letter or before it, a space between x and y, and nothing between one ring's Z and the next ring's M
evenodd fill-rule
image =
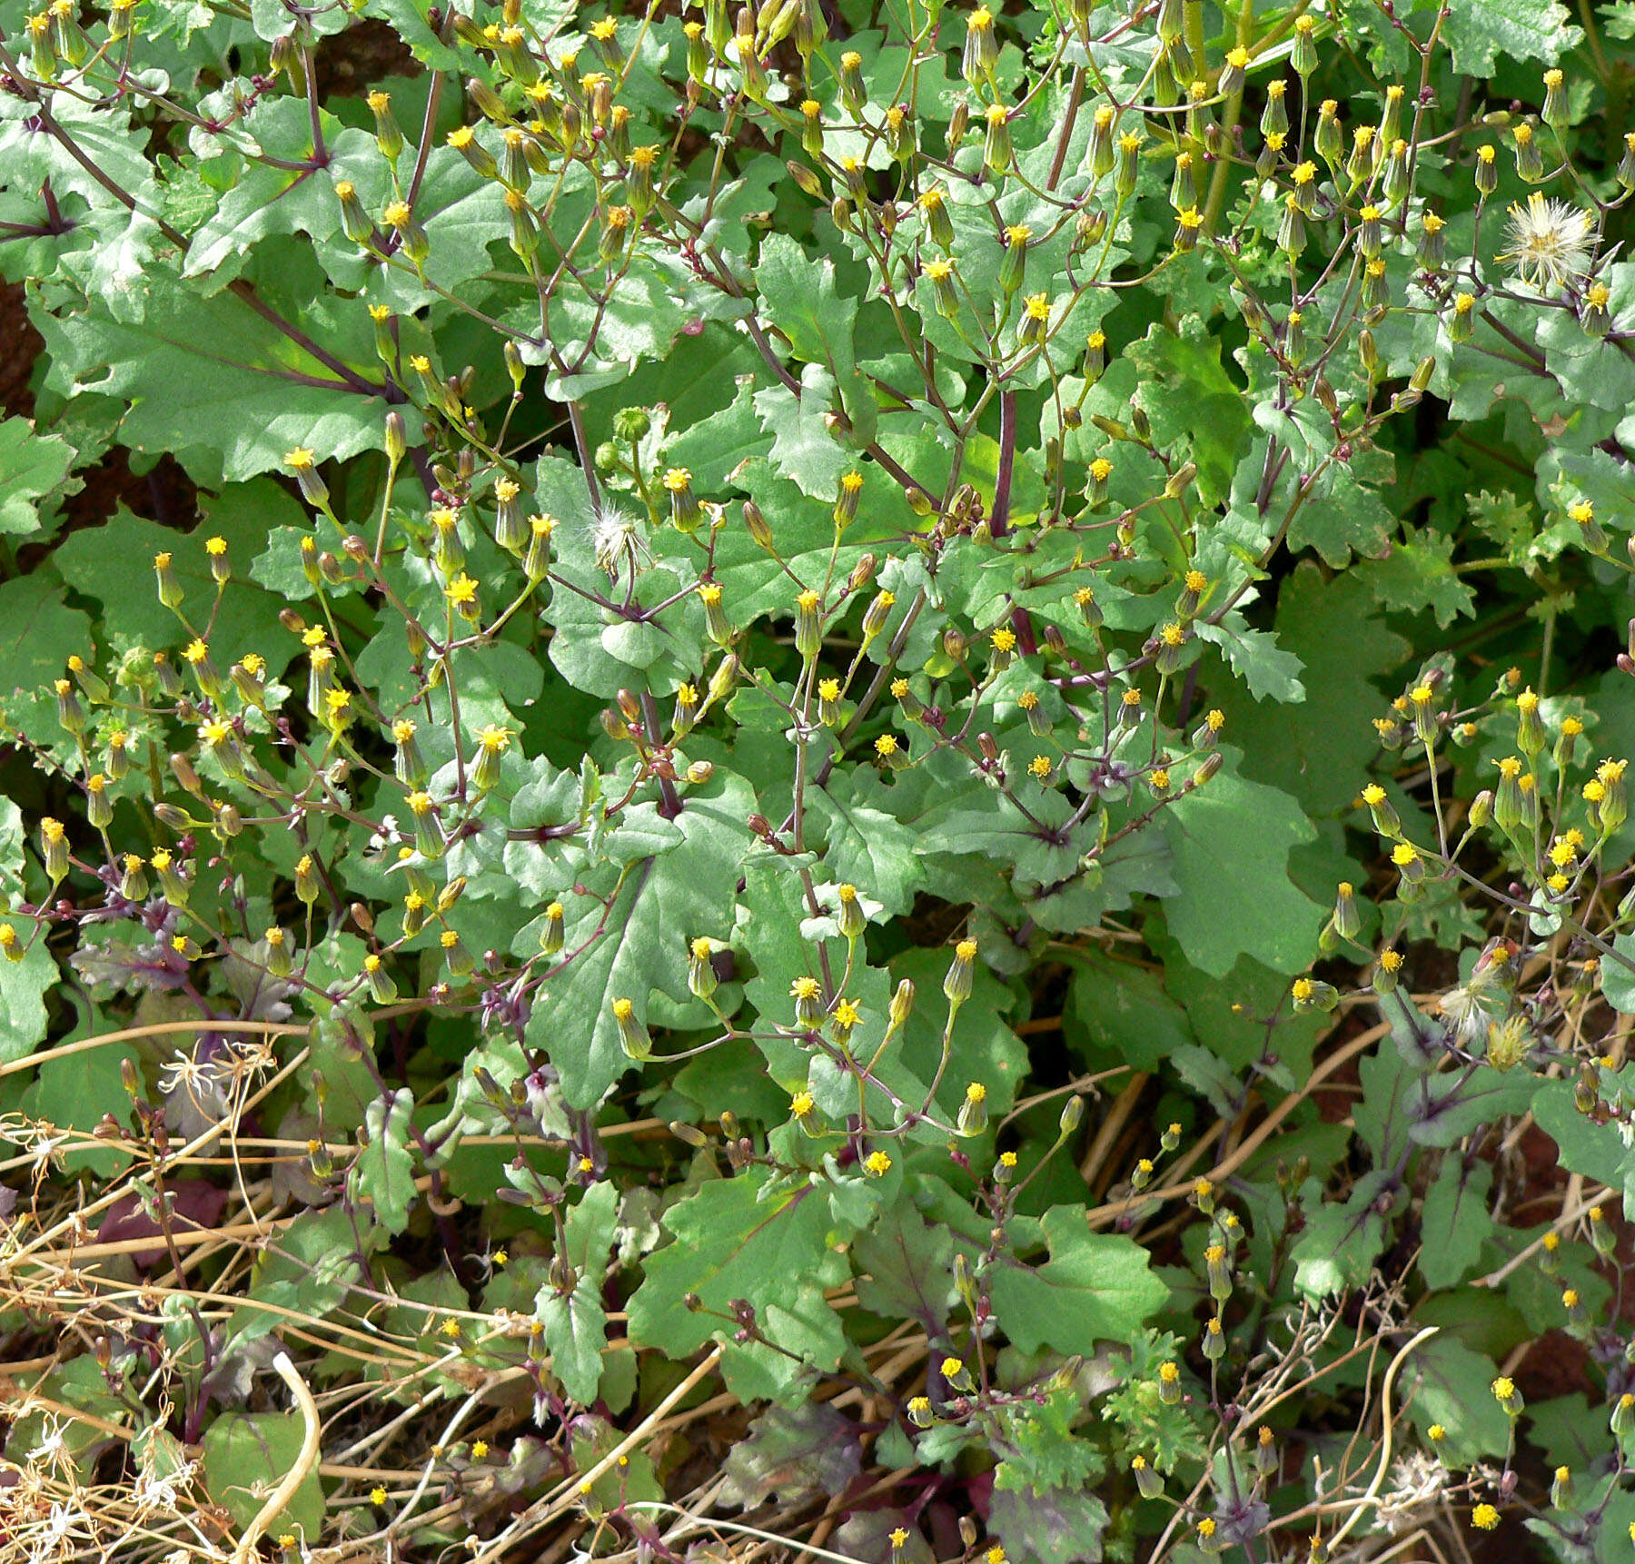
M1148 1253L1118 1234L1091 1232L1079 1206L1041 1218L1050 1260L1004 1257L989 1271L1001 1330L1020 1352L1050 1347L1091 1356L1100 1342L1127 1342L1164 1306L1169 1288L1148 1270Z

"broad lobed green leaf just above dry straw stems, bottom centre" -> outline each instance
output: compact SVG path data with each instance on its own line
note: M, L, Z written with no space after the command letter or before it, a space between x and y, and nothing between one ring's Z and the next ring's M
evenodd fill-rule
M728 1329L719 1316L731 1314L734 1298L755 1307L773 1345L800 1353L806 1332L831 1338L834 1311L822 1289L844 1281L849 1267L831 1245L829 1201L806 1183L773 1191L772 1178L767 1169L716 1178L665 1213L674 1242L649 1257L629 1299L633 1342L685 1358ZM705 1312L687 1307L688 1293L703 1299ZM837 1322L832 1340L839 1360Z

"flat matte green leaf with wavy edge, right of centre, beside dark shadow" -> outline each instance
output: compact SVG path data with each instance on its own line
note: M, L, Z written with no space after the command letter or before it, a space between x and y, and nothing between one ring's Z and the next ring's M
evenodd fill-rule
M1239 956L1277 972L1303 971L1328 909L1288 878L1288 850L1316 837L1300 806L1228 765L1161 819L1179 886L1164 915L1187 958L1215 977Z

